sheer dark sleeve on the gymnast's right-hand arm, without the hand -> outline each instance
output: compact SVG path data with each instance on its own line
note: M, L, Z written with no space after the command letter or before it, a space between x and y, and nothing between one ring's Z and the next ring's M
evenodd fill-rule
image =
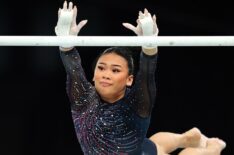
M135 85L131 97L133 104L130 104L137 114L141 117L148 117L151 114L153 104L155 103L156 84L155 71L157 63L157 54L149 56L144 52L140 55L140 66L136 76ZM131 98L130 97L130 98Z

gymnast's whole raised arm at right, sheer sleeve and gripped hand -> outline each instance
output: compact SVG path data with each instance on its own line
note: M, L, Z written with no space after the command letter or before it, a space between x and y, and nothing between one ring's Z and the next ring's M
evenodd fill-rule
M139 12L137 26L123 23L123 26L132 30L138 36L158 35L156 16L148 12L147 9ZM135 84L128 95L129 104L142 117L150 116L156 96L155 69L157 63L157 47L142 47L140 55L140 66ZM134 102L132 102L134 101Z

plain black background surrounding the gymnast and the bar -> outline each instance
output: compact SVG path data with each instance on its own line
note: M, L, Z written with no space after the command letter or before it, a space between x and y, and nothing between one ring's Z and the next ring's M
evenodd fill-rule
M234 36L232 0L74 0L81 36L134 36L121 23L136 23L138 11L157 15L161 36ZM54 36L63 0L1 0L0 35ZM88 79L91 62L107 47L77 47ZM135 58L139 50L135 48ZM234 47L159 47L157 102L148 136L194 126L227 142L232 155ZM0 154L80 154L66 73L58 47L0 46ZM176 154L176 152L174 153Z

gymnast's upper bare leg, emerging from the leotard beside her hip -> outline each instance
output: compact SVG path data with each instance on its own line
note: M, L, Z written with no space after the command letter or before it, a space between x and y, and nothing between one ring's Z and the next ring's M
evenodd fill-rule
M159 132L151 136L150 140L157 145L160 152L167 154L178 148L200 147L202 136L199 129L192 128L183 134Z

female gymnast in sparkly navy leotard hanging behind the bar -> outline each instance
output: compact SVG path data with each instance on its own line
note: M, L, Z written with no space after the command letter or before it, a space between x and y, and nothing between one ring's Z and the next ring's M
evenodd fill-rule
M87 20L76 24L76 16L76 6L65 1L58 11L56 35L78 35ZM146 9L139 12L136 27L129 23L123 26L138 36L158 35L156 17ZM142 47L134 77L129 50L106 49L97 59L93 86L85 77L76 48L60 47L75 131L85 155L166 155L178 148L184 148L180 155L221 154L225 142L207 138L198 128L182 134L160 132L146 137L156 96L157 53L157 47Z

